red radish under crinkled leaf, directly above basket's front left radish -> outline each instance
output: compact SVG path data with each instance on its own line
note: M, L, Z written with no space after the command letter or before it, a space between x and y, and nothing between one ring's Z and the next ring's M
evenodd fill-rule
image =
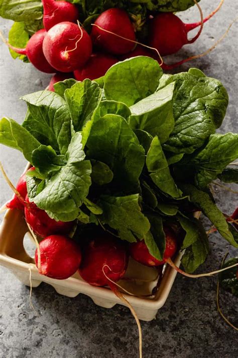
M30 202L28 196L26 196L26 202ZM25 219L37 235L46 237L53 234L68 234L72 229L74 221L66 223L56 221L51 219L45 210L39 209L33 202L30 205L30 208L25 206Z

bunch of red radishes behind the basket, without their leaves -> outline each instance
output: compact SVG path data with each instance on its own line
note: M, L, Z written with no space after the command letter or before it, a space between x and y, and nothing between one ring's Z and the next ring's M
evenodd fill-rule
M15 52L26 55L37 69L45 73L57 72L50 84L51 91L54 90L52 84L69 78L69 73L78 81L94 80L103 76L117 61L138 55L154 57L162 68L171 69L178 63L166 65L161 56L173 54L183 45L194 42L201 34L203 23L219 10L222 3L223 0L205 19L196 3L201 21L192 24L184 24L173 13L152 14L146 21L148 37L144 43L139 43L136 25L125 10L104 11L91 24L88 34L78 21L80 14L74 4L42 0L44 29L37 31L24 49L8 45ZM188 32L197 27L200 27L198 33L188 39Z

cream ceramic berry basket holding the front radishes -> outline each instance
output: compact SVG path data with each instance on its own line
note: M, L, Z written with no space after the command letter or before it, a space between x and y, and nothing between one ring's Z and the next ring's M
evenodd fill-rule
M28 168L29 166L27 166L26 170ZM24 284L30 286L29 267L31 267L32 287L38 287L41 282L46 282L52 285L57 293L64 296L76 297L79 294L84 294L89 296L96 305L105 308L111 308L115 304L122 305L120 299L110 289L91 286L80 277L79 273L75 273L64 280L53 279L39 274L34 258L29 256L24 248L24 240L27 236L29 239L31 234L22 211L8 209L0 232L0 262L3 266L9 268ZM174 259L177 266L180 265L181 257L182 253L180 252ZM31 265L29 266L29 264ZM157 270L141 265L130 258L125 275L126 279L120 280L118 284L135 295L131 296L124 293L126 299L134 307L139 319L151 321L167 300L176 273L170 266L165 267L162 278L160 277L160 284L156 294L150 296L152 290L157 287Z

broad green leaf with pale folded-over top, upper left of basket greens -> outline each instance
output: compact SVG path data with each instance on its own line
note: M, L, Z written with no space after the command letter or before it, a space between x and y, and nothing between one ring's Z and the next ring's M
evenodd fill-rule
M35 92L22 99L29 110L23 127L41 144L64 155L71 140L71 120L64 99L50 91Z

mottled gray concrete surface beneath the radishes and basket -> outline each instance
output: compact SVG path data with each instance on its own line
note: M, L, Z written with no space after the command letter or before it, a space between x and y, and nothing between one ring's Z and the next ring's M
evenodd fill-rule
M201 0L204 14L218 3ZM172 60L200 53L214 44L235 17L238 6L226 0L222 10L205 26L200 39L188 45ZM197 10L182 15L184 20L197 19ZM1 19L7 34L10 21ZM22 95L47 86L50 76L41 74L31 64L13 60L6 45L0 44L1 93L0 114L20 123L26 105ZM237 23L218 47L206 57L187 63L179 70L197 66L211 77L222 81L229 94L227 115L220 132L237 131ZM17 151L1 147L1 161L14 183L26 164ZM1 178L1 204L12 195ZM237 187L236 187L237 189ZM231 213L237 195L216 189L216 199L223 211ZM209 238L211 253L200 271L216 269L228 245L218 234ZM234 254L235 250L229 248ZM237 252L236 252L237 254ZM145 357L234 358L238 356L237 332L221 319L215 304L216 277L189 279L177 276L169 298L156 320L141 322ZM107 310L97 307L84 295L69 299L56 294L47 284L32 293L32 302L40 315L29 306L29 288L8 270L1 270L0 355L4 358L104 358L137 356L137 327L129 310L115 306ZM220 304L224 314L238 325L237 299L222 292Z

